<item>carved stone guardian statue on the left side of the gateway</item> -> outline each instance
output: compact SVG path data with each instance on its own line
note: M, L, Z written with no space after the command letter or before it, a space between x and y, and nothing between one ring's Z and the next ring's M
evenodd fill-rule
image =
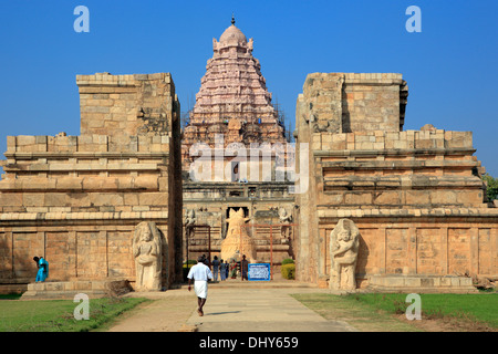
M133 257L136 269L136 291L160 290L162 239L155 222L143 221L135 228Z

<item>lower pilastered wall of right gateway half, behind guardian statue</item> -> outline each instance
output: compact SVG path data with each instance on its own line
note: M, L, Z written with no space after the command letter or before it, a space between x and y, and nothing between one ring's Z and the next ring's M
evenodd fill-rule
M330 274L330 232L340 218L360 228L356 279L371 277L496 277L498 210L321 210L319 278Z

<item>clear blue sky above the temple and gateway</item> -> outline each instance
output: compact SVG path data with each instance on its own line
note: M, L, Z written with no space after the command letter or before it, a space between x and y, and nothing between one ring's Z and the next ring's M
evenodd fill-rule
M90 33L73 30L80 4ZM421 33L405 30L412 4ZM0 152L9 135L80 134L76 74L170 72L187 110L232 12L292 126L308 73L402 73L404 129L471 131L498 177L496 0L1 1Z

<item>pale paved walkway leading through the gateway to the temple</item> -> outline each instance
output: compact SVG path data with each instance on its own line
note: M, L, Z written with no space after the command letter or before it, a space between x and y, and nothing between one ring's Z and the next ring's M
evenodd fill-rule
M204 316L197 313L194 289L131 293L157 301L128 314L110 331L154 332L352 332L351 325L329 321L290 294L325 292L294 282L227 281L209 284Z

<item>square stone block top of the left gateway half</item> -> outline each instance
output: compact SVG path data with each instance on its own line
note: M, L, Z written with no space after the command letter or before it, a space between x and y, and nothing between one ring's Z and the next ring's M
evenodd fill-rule
M169 73L77 75L81 134L172 131L175 86Z

